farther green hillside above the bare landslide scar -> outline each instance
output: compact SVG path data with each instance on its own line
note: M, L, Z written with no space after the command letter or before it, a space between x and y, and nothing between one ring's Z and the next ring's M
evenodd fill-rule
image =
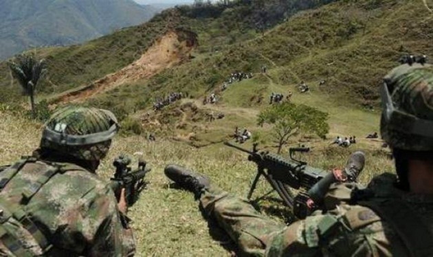
M199 35L200 54L222 51L229 45L244 42L260 35L255 21L263 21L259 27L269 28L281 22L284 16L297 10L312 8L321 1L233 1L230 5L203 5L197 8L180 6L166 10L151 21L136 27L121 29L109 36L92 40L83 45L38 49L38 55L47 59L49 73L39 86L40 93L60 93L70 88L89 84L95 79L118 71L142 53L168 29L181 27ZM274 13L276 7L285 3ZM11 79L5 63L0 63L0 86L7 90L0 95L0 102L19 99L19 88L10 86Z

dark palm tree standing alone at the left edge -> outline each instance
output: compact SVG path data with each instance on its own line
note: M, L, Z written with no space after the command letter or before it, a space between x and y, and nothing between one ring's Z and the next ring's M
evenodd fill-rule
M47 71L45 60L37 60L33 55L17 56L14 61L8 62L12 76L18 80L25 95L30 97L32 118L36 118L34 95L39 79Z

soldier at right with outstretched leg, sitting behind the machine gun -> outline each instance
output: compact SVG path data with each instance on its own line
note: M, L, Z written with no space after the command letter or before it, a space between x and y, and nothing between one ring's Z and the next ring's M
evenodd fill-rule
M340 199L289 226L260 215L247 201L204 175L169 165L170 180L193 191L245 256L433 256L433 67L404 64L381 88L381 135L392 147L397 176L384 173L367 188L334 184Z

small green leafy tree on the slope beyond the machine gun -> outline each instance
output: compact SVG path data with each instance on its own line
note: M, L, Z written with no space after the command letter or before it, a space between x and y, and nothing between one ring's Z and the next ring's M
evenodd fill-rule
M278 154L282 146L287 144L289 138L300 131L314 133L325 138L329 132L329 124L326 122L329 115L316 108L295 105L285 102L274 104L258 114L257 123L273 125L273 136L278 143Z

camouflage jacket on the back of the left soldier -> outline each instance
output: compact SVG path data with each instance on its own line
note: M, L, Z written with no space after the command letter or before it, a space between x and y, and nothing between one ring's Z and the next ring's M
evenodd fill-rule
M131 256L122 219L109 185L75 164L34 159L0 173L0 256Z

